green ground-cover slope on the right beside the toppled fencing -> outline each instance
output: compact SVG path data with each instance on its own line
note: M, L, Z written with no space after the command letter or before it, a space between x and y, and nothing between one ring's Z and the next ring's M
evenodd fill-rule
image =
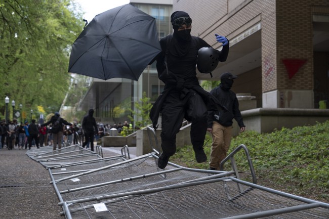
M208 134L204 147L208 159L211 142ZM232 138L229 153L240 144L249 150L259 185L329 203L329 120L269 134L247 130ZM234 158L239 171L245 173L242 176L250 175L243 150ZM192 146L178 148L170 161L191 168L209 168L208 162L195 161ZM230 169L230 164L225 167Z

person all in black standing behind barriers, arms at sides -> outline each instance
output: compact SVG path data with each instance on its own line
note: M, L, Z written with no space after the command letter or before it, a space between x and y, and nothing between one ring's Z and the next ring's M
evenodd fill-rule
M90 148L94 151L94 135L98 135L98 128L94 115L94 109L90 109L88 111L88 115L84 117L82 127L85 134L85 142L83 143L83 147L90 143Z

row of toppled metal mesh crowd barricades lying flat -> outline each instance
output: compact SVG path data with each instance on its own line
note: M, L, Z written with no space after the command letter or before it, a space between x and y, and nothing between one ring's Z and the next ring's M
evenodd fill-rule
M171 162L159 169L155 130L149 131L154 152L132 159L128 146L113 157L79 146L28 155L48 169L66 218L329 218L327 203L257 185L244 145L225 160L231 160L231 171ZM239 179L234 154L240 149L253 183Z

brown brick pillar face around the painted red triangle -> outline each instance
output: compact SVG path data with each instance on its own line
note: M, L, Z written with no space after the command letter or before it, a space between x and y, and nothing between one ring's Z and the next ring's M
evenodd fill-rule
M276 1L277 85L274 89L313 89L313 44L311 2ZM282 59L305 59L306 63L289 79Z

